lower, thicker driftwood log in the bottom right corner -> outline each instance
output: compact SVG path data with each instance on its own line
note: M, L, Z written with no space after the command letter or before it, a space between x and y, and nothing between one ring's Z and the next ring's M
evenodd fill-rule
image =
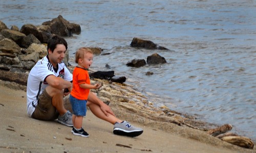
M226 141L228 143L238 145L244 148L252 149L254 147L253 142L251 139L241 136L226 136L222 137L221 140Z

